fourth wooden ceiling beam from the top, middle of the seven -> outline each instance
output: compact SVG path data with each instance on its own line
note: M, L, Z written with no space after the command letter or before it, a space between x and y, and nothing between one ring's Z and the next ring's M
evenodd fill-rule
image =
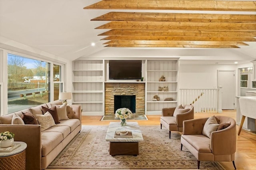
M202 37L256 37L256 31L207 31L207 30L134 30L134 29L111 29L100 36L131 35L131 36L202 36Z

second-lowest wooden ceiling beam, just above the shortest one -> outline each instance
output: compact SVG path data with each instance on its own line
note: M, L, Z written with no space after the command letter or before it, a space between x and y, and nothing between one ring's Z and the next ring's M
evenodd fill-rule
M138 41L138 40L112 40L104 44L129 45L129 44L148 44L148 45L248 45L243 42L232 41Z

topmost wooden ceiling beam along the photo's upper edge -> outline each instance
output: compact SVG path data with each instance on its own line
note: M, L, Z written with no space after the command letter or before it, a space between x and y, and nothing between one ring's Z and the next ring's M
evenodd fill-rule
M84 9L256 11L256 3L242 0L102 0Z

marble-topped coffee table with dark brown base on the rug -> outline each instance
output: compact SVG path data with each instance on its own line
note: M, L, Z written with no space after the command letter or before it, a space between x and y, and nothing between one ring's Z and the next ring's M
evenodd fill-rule
M116 131L132 131L132 138L120 137L114 138ZM127 121L127 125L122 127L120 122L110 122L106 134L106 141L109 142L109 154L115 156L117 154L139 154L139 142L143 141L140 126L136 121Z

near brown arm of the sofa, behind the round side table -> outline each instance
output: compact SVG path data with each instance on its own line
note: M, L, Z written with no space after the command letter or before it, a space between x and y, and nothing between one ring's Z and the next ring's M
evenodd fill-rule
M41 125L0 125L0 129L14 133L14 141L27 144L26 170L41 170Z

